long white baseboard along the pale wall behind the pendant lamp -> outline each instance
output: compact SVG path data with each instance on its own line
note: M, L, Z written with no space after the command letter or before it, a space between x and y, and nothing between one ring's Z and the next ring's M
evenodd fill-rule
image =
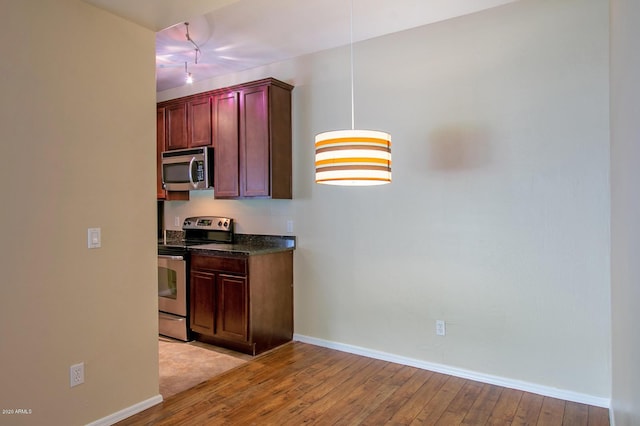
M396 364L408 365L423 370L434 371L436 373L448 374L450 376L460 377L463 379L474 380L481 383L502 386L505 388L517 389L525 392L531 392L538 395L558 398L565 401L578 402L581 404L594 405L596 407L610 408L611 399L602 398L593 395L587 395L579 392L557 389L549 386L542 386L535 383L524 382L521 380L508 379L505 377L493 376L490 374L478 373L476 371L464 370L462 368L450 367L444 364L436 364L432 362L422 361L413 358L407 358L390 354L387 352L376 351L363 348L360 346L346 345L344 343L332 342L329 340L318 339L315 337L294 334L293 340L303 343L309 343L316 346L322 346L329 349L336 349L342 352L348 352L356 355L362 355L368 358L389 361Z

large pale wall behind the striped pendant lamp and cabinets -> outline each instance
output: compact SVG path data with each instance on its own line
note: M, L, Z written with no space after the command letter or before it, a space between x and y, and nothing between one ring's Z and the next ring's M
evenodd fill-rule
M314 135L350 125L346 48L160 93L296 86L294 200L192 192L169 228L292 219L297 334L606 401L608 40L606 1L522 0L356 45L356 126L393 136L382 187L313 182Z

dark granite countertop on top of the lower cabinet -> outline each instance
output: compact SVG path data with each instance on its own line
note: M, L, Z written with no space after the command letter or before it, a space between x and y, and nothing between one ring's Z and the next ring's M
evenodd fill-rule
M257 255L292 251L296 248L296 238L278 235L236 234L233 244L213 243L189 246L192 252L207 252L236 255Z

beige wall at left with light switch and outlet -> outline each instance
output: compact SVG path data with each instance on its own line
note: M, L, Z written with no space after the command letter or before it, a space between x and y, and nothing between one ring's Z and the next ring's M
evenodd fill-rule
M158 395L154 34L79 0L0 10L0 408L32 412L0 423L86 424Z

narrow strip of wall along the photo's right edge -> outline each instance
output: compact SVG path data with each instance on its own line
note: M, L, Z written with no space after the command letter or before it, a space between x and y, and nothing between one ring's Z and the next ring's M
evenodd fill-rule
M640 424L640 4L611 2L612 406L616 426Z

